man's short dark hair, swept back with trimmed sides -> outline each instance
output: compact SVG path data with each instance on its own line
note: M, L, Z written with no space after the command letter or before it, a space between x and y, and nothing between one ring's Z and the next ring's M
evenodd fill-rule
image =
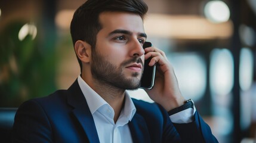
M99 15L106 11L138 14L143 19L147 13L147 5L143 0L88 0L75 11L70 24L74 46L76 41L81 40L89 43L92 50L95 50L96 36L102 28ZM78 58L77 55L76 57ZM78 63L82 73L82 62L79 58Z

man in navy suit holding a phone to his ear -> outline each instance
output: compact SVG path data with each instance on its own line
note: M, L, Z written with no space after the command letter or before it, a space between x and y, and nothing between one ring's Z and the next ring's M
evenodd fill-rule
M81 74L67 90L24 102L13 141L217 142L182 97L164 52L142 48L146 12L140 0L88 0L79 7L70 31ZM126 92L140 87L150 57L149 66L157 65L155 87L147 91L153 104Z

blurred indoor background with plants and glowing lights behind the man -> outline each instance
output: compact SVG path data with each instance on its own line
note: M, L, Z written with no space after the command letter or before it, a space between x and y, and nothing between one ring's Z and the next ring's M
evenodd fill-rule
M255 142L256 1L144 0L148 41L219 142ZM0 107L67 89L79 74L69 32L82 0L0 0ZM142 89L132 97L152 102ZM138 96L138 94L140 94Z

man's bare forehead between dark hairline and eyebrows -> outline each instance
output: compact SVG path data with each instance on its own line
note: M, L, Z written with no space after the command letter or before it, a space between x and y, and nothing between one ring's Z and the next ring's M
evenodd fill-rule
M123 12L104 12L99 16L103 29L115 30L125 29L132 32L144 33L143 20L138 14Z

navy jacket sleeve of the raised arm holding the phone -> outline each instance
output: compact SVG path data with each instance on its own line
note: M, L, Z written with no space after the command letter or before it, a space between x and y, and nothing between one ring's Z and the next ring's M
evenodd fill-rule
M167 111L161 105L158 106L164 116L162 142L218 142L198 111L195 112L191 123L172 123ZM171 128L175 128L177 133L171 132Z

